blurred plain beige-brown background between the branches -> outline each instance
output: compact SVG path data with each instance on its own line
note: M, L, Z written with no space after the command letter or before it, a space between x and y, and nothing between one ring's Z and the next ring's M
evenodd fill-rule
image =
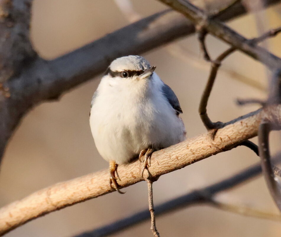
M124 27L130 20L166 9L163 4L151 0L130 1L133 13L126 10L126 4L120 7L120 1L113 0L33 2L31 38L35 49L45 59L54 59L77 49ZM212 4L210 0L194 2L205 4L208 10ZM222 2L227 3L216 1L215 8L222 7ZM227 24L252 38L262 30L281 25L280 7L248 14ZM277 36L267 41L267 47L278 56L281 56L280 40L281 36ZM207 46L213 58L227 48L212 36L207 37ZM198 115L198 104L210 65L202 60L197 37L182 38L142 56L157 66L156 73L177 94L188 137L205 132ZM235 100L266 98L267 80L267 72L260 63L239 52L234 53L223 62L217 76L208 104L210 118L226 122L257 109L258 106L238 107ZM89 126L91 98L99 81L100 77L93 78L64 94L59 101L43 103L24 117L1 165L0 206L54 183L108 167L96 150ZM271 135L271 147L272 151L279 150L278 133ZM154 183L154 203L157 205L217 182L258 161L252 151L238 147L164 175ZM125 188L125 191L124 195L114 192L53 212L6 236L71 237L148 208L145 182ZM221 193L217 198L278 213L262 177ZM281 233L280 222L245 217L206 205L195 205L157 217L156 223L161 236L270 237ZM113 236L152 236L150 220Z

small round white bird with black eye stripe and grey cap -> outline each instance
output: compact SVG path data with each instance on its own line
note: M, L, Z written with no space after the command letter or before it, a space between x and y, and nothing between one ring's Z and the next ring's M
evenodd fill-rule
M154 150L185 139L180 103L155 68L141 56L117 58L93 95L91 131L98 152L109 162L110 186L117 191L119 164L139 156L144 170Z

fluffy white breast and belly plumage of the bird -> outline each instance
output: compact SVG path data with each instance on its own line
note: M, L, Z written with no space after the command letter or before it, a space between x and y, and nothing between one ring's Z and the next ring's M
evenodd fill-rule
M165 148L185 139L182 120L162 93L162 80L119 80L104 76L91 108L90 125L101 156L129 162L142 149Z

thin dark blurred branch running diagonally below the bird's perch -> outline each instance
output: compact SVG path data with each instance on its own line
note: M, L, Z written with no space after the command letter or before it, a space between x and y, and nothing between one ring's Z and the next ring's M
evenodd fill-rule
M281 159L281 154L279 154L274 161L278 162ZM173 198L169 201L166 201L162 204L159 204L155 207L155 214L156 216L167 214L169 212L176 211L177 209L182 209L189 207L190 205L196 205L196 204L213 204L210 202L210 199L214 199L214 196L217 195L219 192L227 191L230 188L235 188L235 186L238 186L242 183L245 183L246 181L249 181L250 179L256 178L258 175L261 175L261 165L259 163L252 165L235 175L232 175L228 178L225 178L217 183L211 184L209 186L206 186L204 188L200 188L191 192L188 192L187 194L184 194L182 196ZM206 199L206 194L209 196ZM219 206L214 206L218 207ZM222 208L222 206L221 206ZM236 209L237 210L237 209ZM244 209L243 209L244 210ZM228 211L235 211L234 209ZM237 212L237 211L236 211ZM259 217L259 218L267 218L270 220L280 220L280 216L276 216L274 214L266 215L252 215L253 210L252 209L246 209L245 212L238 214L243 214L247 216L253 216L253 217ZM263 212L259 213L262 214ZM272 215L272 218L270 218L270 215ZM81 233L75 237L104 237L109 236L112 233L117 233L121 230L124 230L128 227L132 227L133 225L136 225L138 223L141 223L145 220L148 220L150 218L149 212L145 209L140 212L137 212L133 215L127 216L121 220L117 220L113 223L110 223L108 225L101 226L99 228L96 228L92 231Z

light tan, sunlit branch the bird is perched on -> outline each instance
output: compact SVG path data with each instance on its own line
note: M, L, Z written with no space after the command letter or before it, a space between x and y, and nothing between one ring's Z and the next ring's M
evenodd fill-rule
M269 121L280 120L280 108L281 105L272 106L270 114L267 110L260 109L227 122L225 127L217 131L214 139L211 139L208 132L154 152L149 167L151 177L158 178L211 155L232 149L242 141L257 135L261 117L267 117ZM120 165L120 186L127 187L142 181L142 167L138 161ZM145 178L146 175L145 171ZM108 182L108 170L55 184L1 208L0 233L3 235L36 217L112 191L114 190Z

